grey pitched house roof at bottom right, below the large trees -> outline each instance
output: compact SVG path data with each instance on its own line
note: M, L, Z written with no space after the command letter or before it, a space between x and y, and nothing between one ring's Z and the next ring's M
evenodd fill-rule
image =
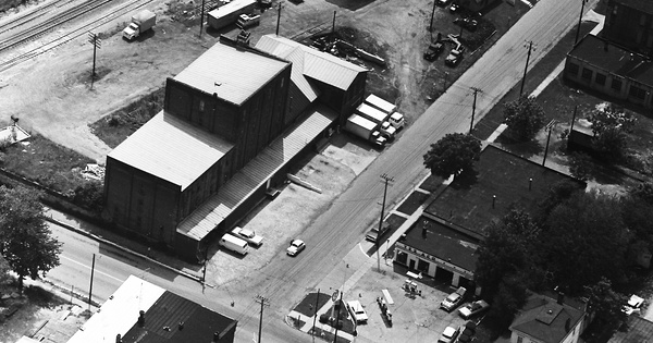
M559 343L578 326L583 311L540 294L532 294L510 324L510 331L521 332L544 343Z

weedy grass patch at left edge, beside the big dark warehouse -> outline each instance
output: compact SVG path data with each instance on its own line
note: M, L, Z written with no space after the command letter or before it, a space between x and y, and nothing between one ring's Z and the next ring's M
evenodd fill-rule
M87 163L95 163L93 159L39 134L34 134L26 142L29 144L16 143L4 149L2 168L61 193L82 185L84 177L81 170Z

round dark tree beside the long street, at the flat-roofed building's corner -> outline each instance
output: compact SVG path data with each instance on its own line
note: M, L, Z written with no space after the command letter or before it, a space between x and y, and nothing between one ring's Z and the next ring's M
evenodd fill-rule
M471 135L453 133L431 144L431 150L424 155L424 166L431 173L443 179L454 177L472 171L473 161L481 154L481 143Z

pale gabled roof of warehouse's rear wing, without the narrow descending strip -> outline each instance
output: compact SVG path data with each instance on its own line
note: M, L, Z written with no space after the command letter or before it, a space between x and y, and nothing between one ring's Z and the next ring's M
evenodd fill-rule
M359 73L367 72L365 68L341 60L330 53L275 35L262 36L256 47L282 59L286 58L291 48L300 49L304 52L301 73L340 89L349 88ZM293 69L295 68L293 65Z

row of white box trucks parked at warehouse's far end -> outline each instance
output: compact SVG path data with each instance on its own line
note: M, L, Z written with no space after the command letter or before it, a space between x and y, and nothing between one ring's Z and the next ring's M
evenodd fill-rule
M406 125L404 114L396 109L394 103L369 95L347 119L345 130L383 148Z

